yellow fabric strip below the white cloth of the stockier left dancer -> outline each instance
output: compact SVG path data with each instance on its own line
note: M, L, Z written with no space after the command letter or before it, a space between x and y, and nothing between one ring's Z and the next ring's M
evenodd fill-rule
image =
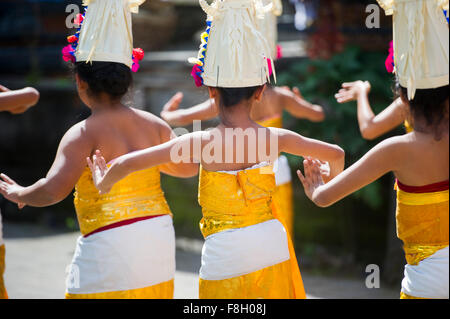
M66 294L66 299L173 299L174 281L166 281L158 285L124 291Z

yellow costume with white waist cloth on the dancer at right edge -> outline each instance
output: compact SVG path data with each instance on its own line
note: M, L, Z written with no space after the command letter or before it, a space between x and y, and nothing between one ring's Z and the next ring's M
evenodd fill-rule
M408 263L405 267L401 299L430 298L419 294L433 295L438 289L420 287L416 277L420 274L420 282L431 282L434 279L435 283L440 283L446 280L443 278L445 269L448 276L448 252L445 257L449 237L448 182L424 187L410 187L397 182L396 188L397 236L403 241ZM438 265L434 262L432 268L427 266L440 255L442 257ZM419 269L418 267L420 271L415 270ZM439 273L436 269L441 267L443 272ZM446 287L443 286L440 290L447 290L448 295L448 278Z

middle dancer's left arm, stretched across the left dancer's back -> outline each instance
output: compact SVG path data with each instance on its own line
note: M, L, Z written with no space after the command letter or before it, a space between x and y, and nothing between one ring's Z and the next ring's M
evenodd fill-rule
M92 171L94 184L100 193L109 193L111 188L129 174L167 163L193 163L201 159L202 132L186 134L164 144L132 152L115 159L110 167L100 151L96 151L93 161L87 162Z

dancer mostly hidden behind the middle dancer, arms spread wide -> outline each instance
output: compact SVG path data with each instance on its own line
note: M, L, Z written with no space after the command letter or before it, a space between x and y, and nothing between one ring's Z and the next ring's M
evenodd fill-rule
M283 6L280 0L264 1L267 3L264 19L257 19L258 30L266 37L271 56L280 58L281 48L277 46L277 16L281 15ZM206 34L205 34L206 37ZM270 63L270 61L269 61ZM272 70L269 70L271 73ZM195 75L195 72L193 73ZM197 81L201 86L201 81ZM189 125L196 120L209 120L219 116L219 108L214 99L209 99L188 109L179 109L182 93L177 93L161 112L161 117L170 125ZM325 118L323 108L306 101L298 88L267 85L261 101L255 101L251 110L251 118L265 127L283 128L283 112L287 111L296 118L304 118L313 122L321 122ZM294 238L294 203L292 191L292 174L286 156L280 155L274 164L277 189L273 195L274 205L281 212L287 230Z

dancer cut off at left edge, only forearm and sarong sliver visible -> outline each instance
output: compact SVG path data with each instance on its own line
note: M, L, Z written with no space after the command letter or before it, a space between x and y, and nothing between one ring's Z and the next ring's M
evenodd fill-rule
M31 87L10 90L0 85L0 112L22 114L39 101L39 92ZM8 299L3 274L5 273L5 244L3 242L2 214L0 211L0 299Z

